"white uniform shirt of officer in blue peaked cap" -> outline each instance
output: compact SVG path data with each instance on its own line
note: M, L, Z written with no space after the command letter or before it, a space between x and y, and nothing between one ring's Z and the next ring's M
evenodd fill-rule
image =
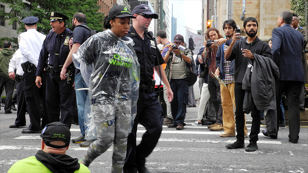
M39 54L46 36L36 29L29 29L18 37L18 45L21 54L25 57L24 62L29 61L38 66Z

